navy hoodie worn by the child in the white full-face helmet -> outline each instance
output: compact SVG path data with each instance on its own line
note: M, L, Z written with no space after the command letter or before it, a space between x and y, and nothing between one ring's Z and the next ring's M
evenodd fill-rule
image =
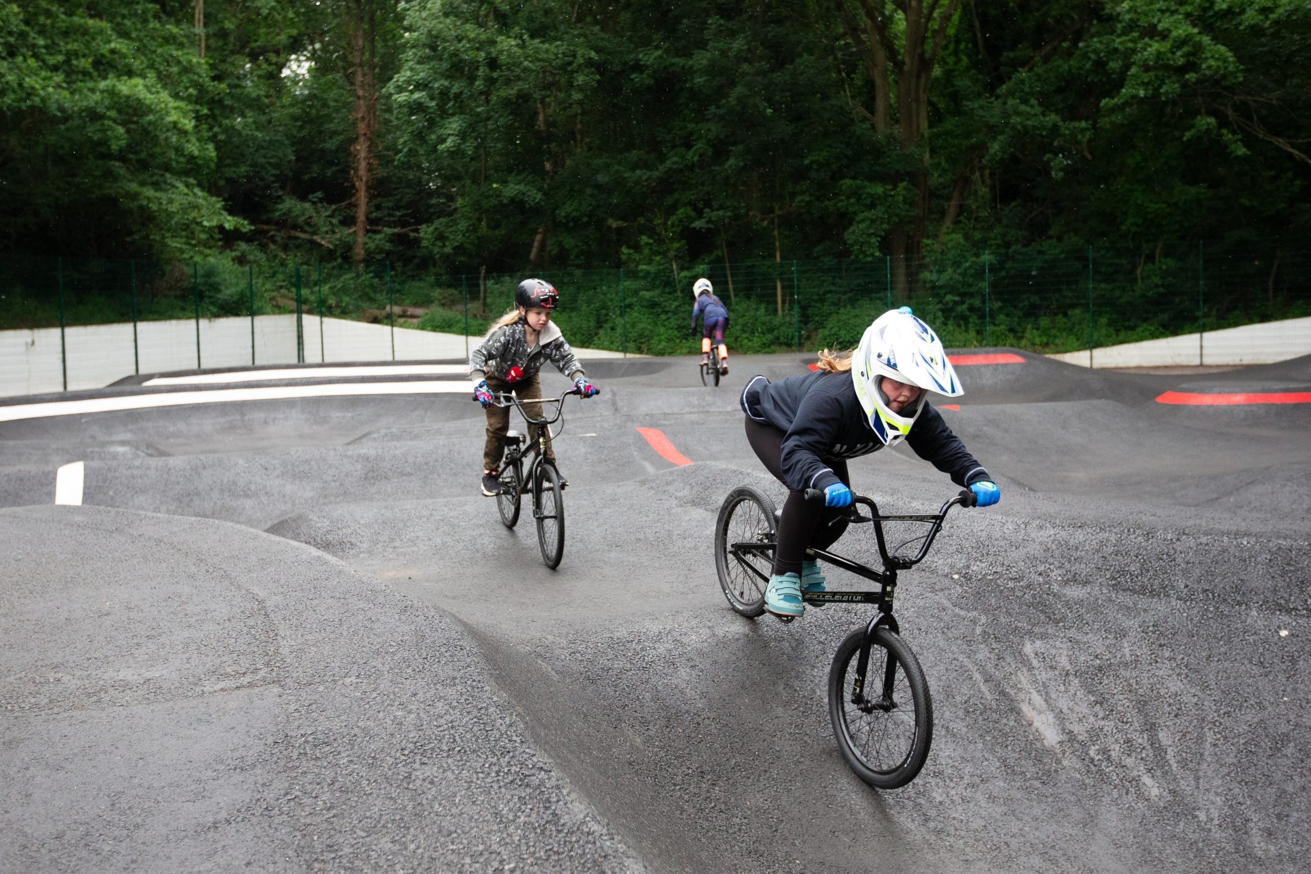
M827 489L840 482L831 463L884 448L847 372L815 371L777 383L755 376L742 389L741 402L753 419L784 432L783 477L789 489ZM958 486L991 480L927 401L906 443Z

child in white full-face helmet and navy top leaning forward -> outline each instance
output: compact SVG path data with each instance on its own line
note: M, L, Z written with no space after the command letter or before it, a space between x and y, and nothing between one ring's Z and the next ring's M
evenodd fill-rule
M926 392L965 393L937 334L909 307L876 318L853 351L819 352L814 373L777 383L755 376L742 389L746 438L770 473L788 486L764 594L767 611L801 616L802 590L826 591L819 562L806 561L805 552L827 549L846 531L843 508L852 502L847 459L906 440L952 482L977 494L978 506L1000 499L992 477L928 405ZM806 489L823 491L823 506L808 502Z

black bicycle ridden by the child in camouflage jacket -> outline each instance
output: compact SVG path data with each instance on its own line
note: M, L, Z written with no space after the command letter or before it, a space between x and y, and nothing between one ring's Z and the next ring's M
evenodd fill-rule
M505 463L501 465L499 477L501 491L496 497L496 506L505 527L514 528L519 523L519 503L524 484L528 484L528 491L532 495L532 519L538 523L538 544L541 546L541 561L547 563L547 567L558 567L565 552L564 487L560 485L561 477L556 463L547 457L547 436L549 435L548 428L560 421L565 398L570 394L582 394L582 392L576 388L560 397L520 400L514 394L496 394L492 398L496 406L514 405L523 415L524 422L538 428L538 439L531 444L524 444L526 435L518 431L506 432ZM532 417L523 409L524 404L555 404L556 414L553 417ZM527 463L527 477L524 477L524 463Z

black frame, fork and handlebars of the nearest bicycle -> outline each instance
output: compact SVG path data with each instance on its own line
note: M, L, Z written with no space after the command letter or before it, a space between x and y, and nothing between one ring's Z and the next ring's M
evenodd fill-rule
M852 704L857 706L869 705L872 708L886 708L890 706L893 683L897 674L897 663L889 658L888 664L884 668L884 684L882 694L877 701L869 701L865 698L865 672L869 670L869 649L872 646L874 633L880 628L888 628L893 634L901 634L901 628L897 625L897 618L893 616L893 599L897 594L897 571L907 570L914 567L924 556L928 554L929 548L933 545L933 540L937 533L943 529L943 520L947 518L948 511L957 506L973 506L975 498L974 494L964 490L961 494L949 498L943 503L943 508L933 515L894 515L884 516L878 512L878 506L867 497L857 497L852 501L852 511L846 516L851 523L873 523L874 537L878 541L878 554L884 560L884 570L874 570L867 565L844 558L836 553L829 552L827 549L808 549L808 558L821 558L835 567L840 567L848 573L857 577L868 579L878 584L877 590L873 591L860 591L860 592L802 592L801 598L808 604L874 604L877 613L869 620L865 626L865 637L860 645L860 656L856 663L856 679L852 684ZM861 516L855 508L857 506L865 506L869 508L869 516ZM888 554L888 541L884 537L884 523L885 522L922 522L929 524L928 533L918 540L924 542L920 545L919 552L914 558L907 558L905 556L889 556ZM911 541L914 542L914 541ZM758 554L758 556L772 556L777 548L776 541L758 541L758 542L734 542L729 546L729 553L735 558L743 554ZM739 561L742 567L750 570L758 578L768 583L768 577L756 569L751 562Z

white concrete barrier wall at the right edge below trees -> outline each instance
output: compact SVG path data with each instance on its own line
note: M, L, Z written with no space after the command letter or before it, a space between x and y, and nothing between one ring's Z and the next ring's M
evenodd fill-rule
M1099 346L1093 367L1180 367L1189 364L1273 364L1311 355L1311 318L1242 325L1198 334L1180 334L1138 343ZM1088 367L1088 350L1050 355L1057 360Z

